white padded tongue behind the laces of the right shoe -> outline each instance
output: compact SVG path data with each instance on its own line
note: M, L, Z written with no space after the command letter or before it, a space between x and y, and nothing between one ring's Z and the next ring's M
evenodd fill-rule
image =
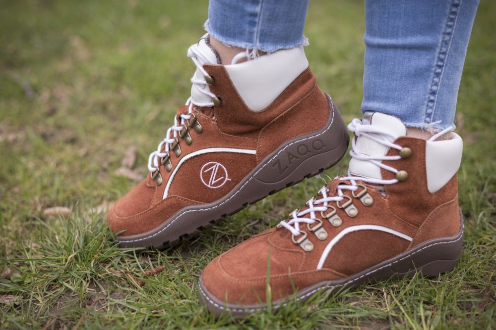
M377 129L389 133L394 139L406 135L406 127L398 118L380 112L366 111L362 119L362 125L371 125ZM383 139L380 134L371 134L378 139ZM389 147L378 143L363 135L357 137L355 151L368 156L384 156ZM380 167L367 160L352 158L349 171L351 175L365 178L382 179Z

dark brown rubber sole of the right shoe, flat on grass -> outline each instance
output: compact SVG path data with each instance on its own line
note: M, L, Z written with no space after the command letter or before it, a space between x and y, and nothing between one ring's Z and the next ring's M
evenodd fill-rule
M463 245L463 217L460 211L460 231L452 237L428 240L391 259L374 265L360 273L344 279L315 283L295 292L291 297L272 302L272 311L290 303L304 302L318 293L329 296L338 294L348 288L363 284L376 283L389 279L411 278L416 273L425 277L434 277L453 270L460 260ZM201 276L198 280L198 300L218 318L229 315L235 318L267 309L266 303L228 304L214 297L203 285Z

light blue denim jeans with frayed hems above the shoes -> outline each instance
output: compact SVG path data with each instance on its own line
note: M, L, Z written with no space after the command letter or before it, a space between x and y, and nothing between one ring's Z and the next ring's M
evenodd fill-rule
M210 0L205 28L229 45L273 52L307 44L308 0ZM407 126L453 125L479 0L366 0L362 112Z

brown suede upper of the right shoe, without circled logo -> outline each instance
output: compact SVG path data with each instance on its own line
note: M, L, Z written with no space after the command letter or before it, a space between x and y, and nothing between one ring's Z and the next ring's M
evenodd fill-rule
M412 156L384 163L407 171L409 176L406 181L378 187L385 189L385 194L359 181L358 184L367 187L373 199L370 206L353 197L351 191L343 190L357 208L357 216L348 216L344 209L332 202L343 221L340 226L334 227L320 213L315 213L314 218L322 220L322 228L327 232L324 240L319 240L305 224L300 224L300 230L307 233L313 244L310 252L295 244L292 234L285 228L267 230L232 248L215 258L203 271L201 279L206 290L227 303L264 302L267 262L270 258L269 283L272 298L278 299L320 281L352 276L429 239L456 235L460 229L456 175L442 189L430 193L426 177L426 142L401 137L394 143L411 148ZM388 151L390 156L397 154L396 149ZM388 171L382 171L382 176L386 180L394 178L394 174ZM350 183L332 180L327 186L328 195L336 195L340 184ZM301 210L307 208L305 206ZM329 242L344 229L360 225L386 227L412 240L379 230L354 231L332 246L322 268L317 270Z

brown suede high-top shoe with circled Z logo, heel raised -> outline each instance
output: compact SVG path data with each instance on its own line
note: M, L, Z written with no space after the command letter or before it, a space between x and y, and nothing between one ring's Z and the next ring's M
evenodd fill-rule
M162 247L337 163L349 134L303 47L220 65L204 36L191 97L149 157L149 175L109 211L123 247ZM236 56L239 58L240 56Z

